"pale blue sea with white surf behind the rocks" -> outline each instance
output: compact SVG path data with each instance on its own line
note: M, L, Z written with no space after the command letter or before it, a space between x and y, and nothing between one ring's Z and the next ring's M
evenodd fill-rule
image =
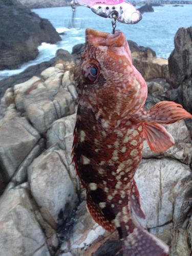
M135 25L125 25L117 22L117 29L124 32L127 39L137 42L140 46L151 47L158 57L168 58L174 49L174 36L181 27L192 26L192 5L173 7L164 5L154 7L155 12L143 14L142 20ZM18 74L27 67L46 61L55 56L57 49L62 48L69 52L74 45L84 42L84 31L86 28L93 28L100 31L111 32L111 20L102 18L92 13L85 7L77 7L75 13L75 28L70 28L72 11L71 7L56 7L34 9L42 18L47 18L60 32L62 41L55 45L42 43L39 47L39 55L35 60L24 63L17 70L0 71L0 80Z

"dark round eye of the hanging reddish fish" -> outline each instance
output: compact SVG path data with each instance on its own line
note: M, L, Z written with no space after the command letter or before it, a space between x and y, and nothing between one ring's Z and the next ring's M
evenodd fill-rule
M94 83L99 77L99 67L95 63L87 63L82 67L83 80L87 83Z

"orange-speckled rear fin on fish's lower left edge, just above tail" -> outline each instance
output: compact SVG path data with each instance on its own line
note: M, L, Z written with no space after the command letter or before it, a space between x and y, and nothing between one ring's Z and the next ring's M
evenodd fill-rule
M98 205L91 200L89 193L87 194L87 209L94 221L101 227L108 231L113 231L115 229L114 224L104 217Z

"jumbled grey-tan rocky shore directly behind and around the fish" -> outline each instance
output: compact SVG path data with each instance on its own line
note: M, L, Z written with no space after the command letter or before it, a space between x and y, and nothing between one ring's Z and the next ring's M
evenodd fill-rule
M129 41L134 65L147 81L146 108L175 100L191 112L191 29L177 32L168 61ZM89 216L71 164L77 108L73 73L82 47L75 46L72 55L59 50L52 67L8 88L1 99L0 255L118 253L117 233ZM169 245L172 256L191 254L192 125L186 124L167 127L175 145L164 153L144 143L136 173L146 214L138 221Z

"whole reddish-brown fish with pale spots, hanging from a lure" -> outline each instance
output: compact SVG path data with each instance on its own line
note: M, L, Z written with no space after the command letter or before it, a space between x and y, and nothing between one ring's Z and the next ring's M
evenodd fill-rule
M88 211L106 230L117 230L123 255L167 255L168 246L132 216L134 211L145 218L134 175L142 158L143 139L152 151L166 151L174 138L162 124L192 115L172 101L144 109L147 85L133 66L121 31L110 34L87 29L75 76L78 107L72 154L86 189Z

